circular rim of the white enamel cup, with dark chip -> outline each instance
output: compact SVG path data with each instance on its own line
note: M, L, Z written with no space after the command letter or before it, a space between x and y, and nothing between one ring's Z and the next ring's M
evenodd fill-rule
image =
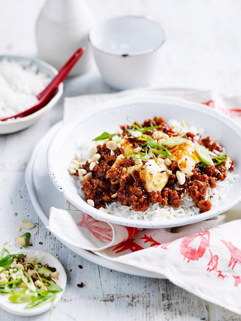
M150 49L147 49L147 50L143 50L143 51L140 51L140 52L137 52L137 53L131 53L131 52L127 52L125 53L114 53L112 51L108 51L108 50L103 50L102 48L100 48L99 46L96 46L92 40L92 36L91 36L91 33L94 32L95 29L99 28L101 25L103 25L105 22L108 22L108 21L112 21L112 20L118 20L118 19L123 19L123 18L135 18L135 19L142 19L142 20L147 20L148 22L151 22L153 24L155 24L156 26L159 27L160 30L162 30L163 32L163 39L160 41L159 45L154 47L154 48L150 48ZM151 19L147 19L145 17L138 17L138 16L121 16L121 17L114 17L114 18L111 18L111 19L107 19L101 23L99 23L97 26L95 26L92 30L90 30L89 32L89 35L88 35L88 38L89 38L89 41L91 43L91 45L98 51L100 52L103 52L105 54L108 54L108 55L113 55L113 56L122 56L122 57L135 57L135 56L143 56L143 55L147 55L151 52L154 52L156 51L157 49L161 48L161 46L164 44L165 40L166 40L166 37L165 37L165 31L164 29L155 21L151 20Z

